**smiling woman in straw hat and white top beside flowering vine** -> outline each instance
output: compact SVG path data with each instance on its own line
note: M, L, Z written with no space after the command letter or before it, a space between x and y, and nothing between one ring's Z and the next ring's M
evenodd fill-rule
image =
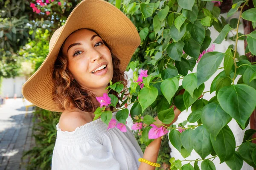
M143 155L129 128L121 132L107 129L101 119L93 121L99 107L96 97L108 93L109 81L123 81L126 87L124 70L138 45L140 36L133 23L103 0L82 1L55 31L47 58L23 85L23 95L30 102L62 112L52 170L155 169L138 159L155 163L161 138L151 142ZM176 109L173 122L179 114Z

